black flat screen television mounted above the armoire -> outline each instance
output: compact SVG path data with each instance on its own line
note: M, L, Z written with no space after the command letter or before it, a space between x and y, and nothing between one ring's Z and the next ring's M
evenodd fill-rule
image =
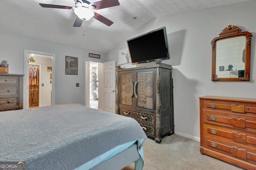
M127 40L132 64L170 59L166 27Z

